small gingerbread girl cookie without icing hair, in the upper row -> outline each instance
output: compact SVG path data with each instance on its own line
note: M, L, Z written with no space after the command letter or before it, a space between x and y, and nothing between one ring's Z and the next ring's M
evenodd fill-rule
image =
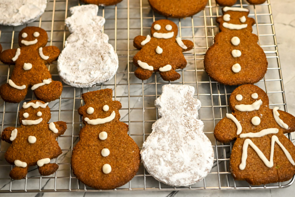
M134 74L137 78L145 80L152 76L153 72L160 72L165 81L175 81L180 78L176 69L186 67L184 51L194 47L190 40L181 40L177 37L177 25L166 19L153 22L151 35L136 36L133 40L135 48L140 49L133 57L133 63L138 68Z

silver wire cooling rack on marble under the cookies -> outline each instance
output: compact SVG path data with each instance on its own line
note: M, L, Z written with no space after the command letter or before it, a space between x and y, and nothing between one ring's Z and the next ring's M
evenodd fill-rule
M30 23L29 26L39 26L45 29L49 37L47 45L55 45L62 50L65 39L69 35L64 20L70 15L69 8L76 5L80 5L77 0L50 0L42 17ZM255 18L256 21L253 33L258 34L259 44L267 56L268 71L256 85L267 92L271 108L279 106L281 110L286 111L270 1L267 0L264 4L253 6L240 0L235 6L250 10L249 16ZM221 7L216 6L214 0L209 0L206 8L193 17L171 19L179 27L179 36L191 40L195 44L194 49L185 53L188 64L185 69L178 71L181 78L171 83L194 86L196 90L194 96L202 102L199 118L204 122L204 132L211 140L215 152L214 166L211 172L199 183L175 188L156 181L141 163L137 175L129 183L115 189L115 191L269 189L284 188L294 182L294 177L287 182L260 186L251 186L245 181L234 181L229 172L229 158L233 143L222 144L214 139L214 126L225 116L225 113L230 112L228 99L236 88L236 86L224 86L213 81L204 71L204 55L208 47L213 44L214 35L219 32L215 19L220 14ZM40 176L35 166L29 168L25 179L12 180L9 177L12 165L9 165L4 159L4 153L9 144L0 141L0 192L98 191L79 182L73 175L70 165L73 146L77 143L79 131L83 127L77 110L83 105L81 94L84 92L104 88L113 89L114 99L122 103L122 109L119 111L121 121L129 125L128 134L140 149L144 140L151 133L151 126L158 118L154 101L161 94L161 87L168 82L163 81L160 75L155 73L145 81L135 77L136 67L132 64L132 58L138 50L133 47L133 38L137 35L150 34L153 21L165 17L154 13L147 0L124 0L117 6L99 7L99 15L106 18L103 31L109 35L109 43L114 46L119 56L117 74L109 82L94 88L81 89L63 84L63 93L60 99L49 103L52 113L50 121L65 121L68 126L64 135L58 138L63 153L54 161L59 165L55 174ZM4 50L18 47L18 33L25 26L0 26L0 43ZM56 63L49 65L48 68L53 74L53 80L60 80ZM1 84L8 81L12 70L13 66L1 64ZM32 91L28 93L24 101L31 99L34 99ZM18 112L24 101L12 104L0 100L1 131L8 126L19 126ZM291 135L289 135L289 139L291 139Z

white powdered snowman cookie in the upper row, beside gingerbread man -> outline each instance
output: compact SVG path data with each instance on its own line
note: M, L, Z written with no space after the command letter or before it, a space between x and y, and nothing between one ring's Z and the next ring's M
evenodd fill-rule
M101 33L105 23L97 16L98 6L89 4L71 7L72 16L65 20L71 35L58 57L61 79L74 87L94 87L116 74L118 56L109 37Z

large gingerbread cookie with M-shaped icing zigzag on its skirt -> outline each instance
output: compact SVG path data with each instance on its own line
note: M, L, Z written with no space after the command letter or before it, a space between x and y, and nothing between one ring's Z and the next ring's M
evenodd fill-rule
M214 129L220 142L236 139L230 157L235 180L260 185L287 181L295 174L295 146L284 135L295 131L295 117L268 105L268 96L259 87L237 87L230 95L233 113Z

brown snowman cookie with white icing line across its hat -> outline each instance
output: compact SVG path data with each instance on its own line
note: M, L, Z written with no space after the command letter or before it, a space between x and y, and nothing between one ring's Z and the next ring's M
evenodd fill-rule
M205 54L204 66L210 77L226 85L253 84L267 71L267 59L251 33L253 18L245 8L224 7L218 17L220 33Z

